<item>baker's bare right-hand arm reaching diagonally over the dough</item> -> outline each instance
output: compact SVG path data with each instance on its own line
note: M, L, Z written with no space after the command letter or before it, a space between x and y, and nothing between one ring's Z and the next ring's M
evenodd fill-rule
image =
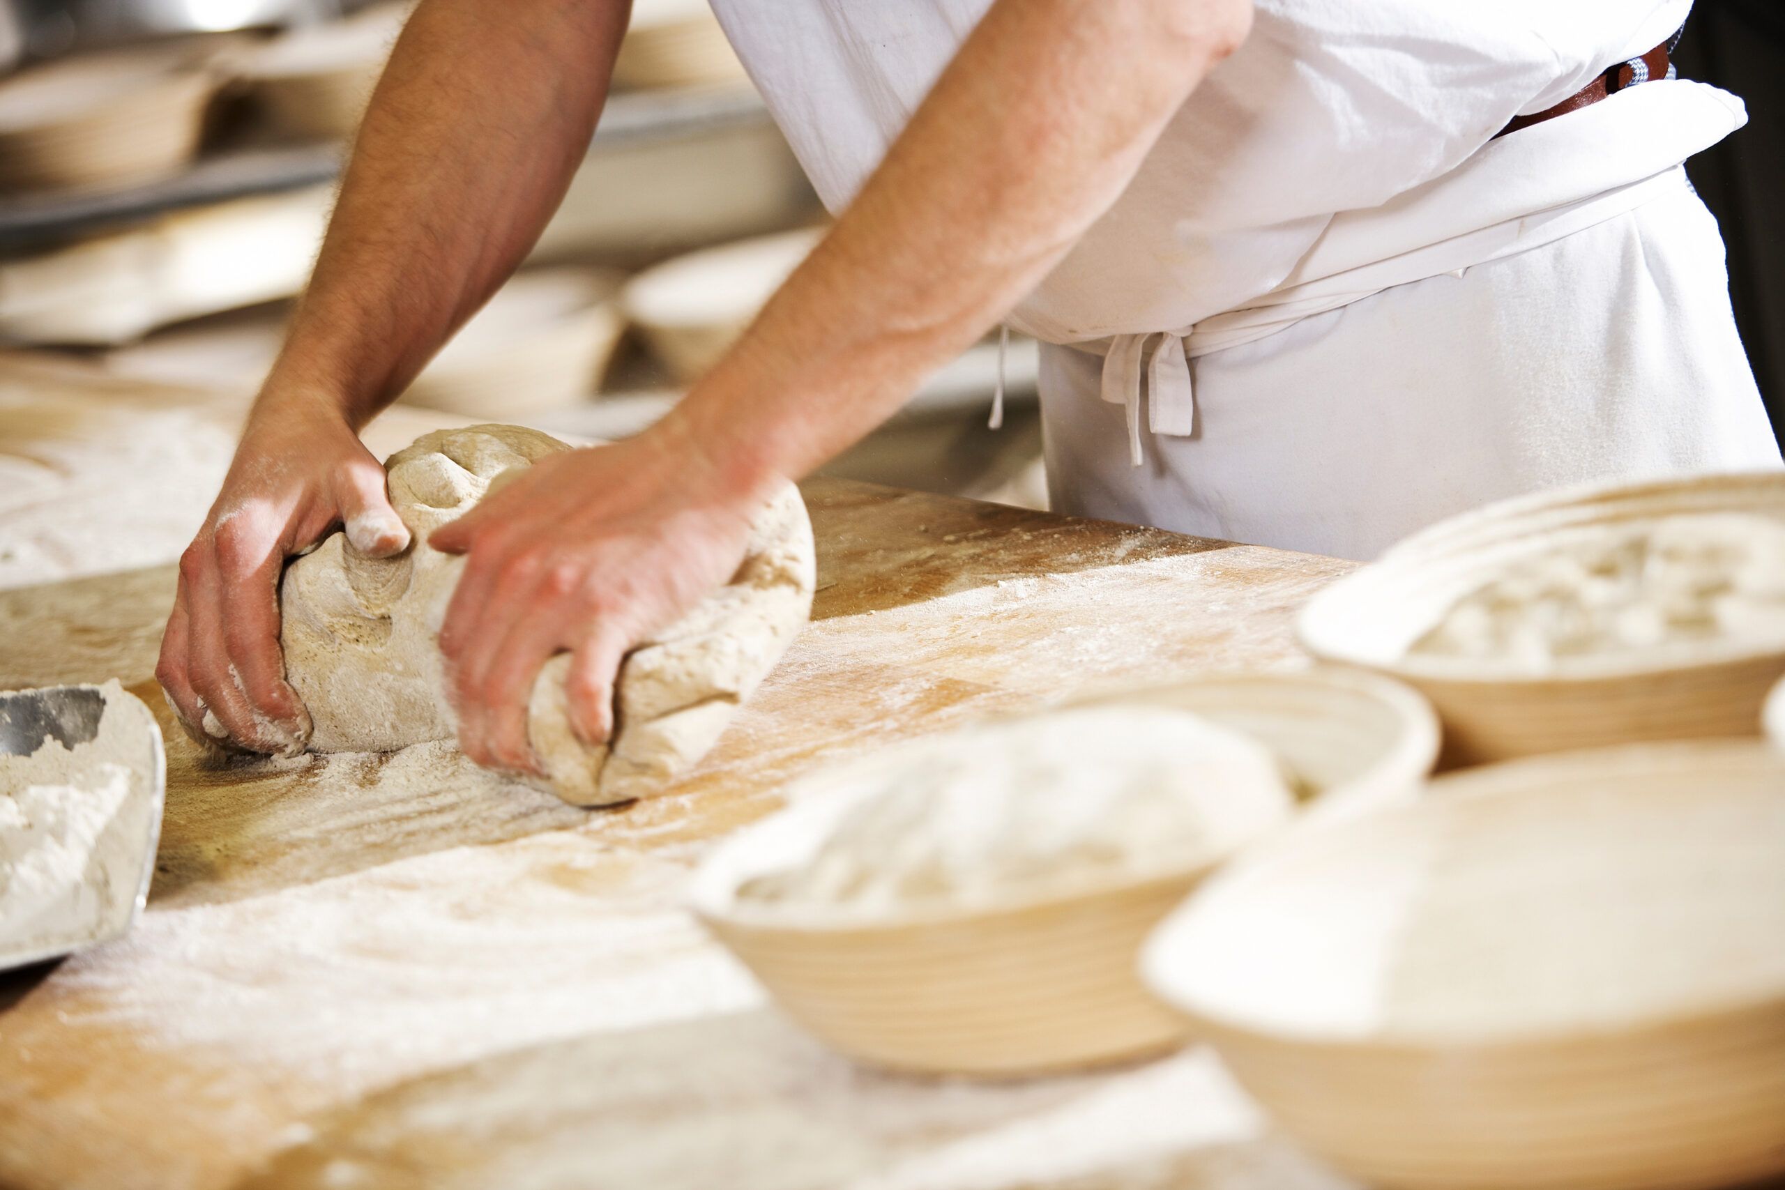
M461 742L534 767L527 690L610 728L627 648L721 582L750 514L887 417L1121 194L1244 37L1250 0L998 0L834 232L650 432L546 460L439 530L469 551L441 648Z

